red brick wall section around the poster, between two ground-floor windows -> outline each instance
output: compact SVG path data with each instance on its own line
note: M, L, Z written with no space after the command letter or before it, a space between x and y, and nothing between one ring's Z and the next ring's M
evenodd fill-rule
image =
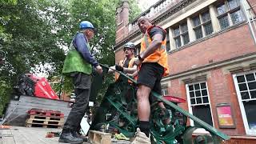
M212 70L210 72L210 78L207 79L207 86L209 90L212 115L214 117L214 127L219 129L216 106L218 105L218 103L229 103L231 104L234 112L234 121L236 128L219 130L228 135L246 134L242 122L242 115L240 112L241 110L238 105L238 96L235 92L232 75L224 75L221 69Z

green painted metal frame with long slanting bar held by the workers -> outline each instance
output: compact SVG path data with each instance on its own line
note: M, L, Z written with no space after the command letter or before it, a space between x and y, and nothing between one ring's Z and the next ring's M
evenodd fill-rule
M102 67L106 69L110 69L109 66L102 65ZM132 90L132 94L135 93L135 86L137 82L128 76L126 74L123 74L122 72L116 71L119 74L122 75L123 78L125 78L124 82L116 82L113 84L110 84L109 89L106 91L105 97L102 100L102 104L100 107L100 110L98 111L104 111L105 113L108 112L114 112L113 114L116 114L118 116L118 119L123 119L126 121L126 125L129 126L119 126L119 123L116 122L116 119L113 121L104 121L102 117L102 114L105 114L104 112L99 112L98 115L95 115L94 122L92 124L92 129L98 129L97 126L100 124L110 124L110 126L113 126L114 128L118 129L122 134L125 134L127 137L134 136L135 128L138 126L138 118L137 115L131 115L126 111L126 108L124 105L126 105L126 92L128 90ZM127 80L130 80L133 82L132 85L128 84ZM130 89L133 87L133 89ZM118 89L119 92L117 92ZM230 139L226 134L223 134L221 131L214 129L214 127L210 126L206 122L203 122L201 119L195 117L194 115L190 114L186 110L183 110L181 107L177 106L173 102L167 101L165 98L162 97L162 95L157 94L155 92L151 92L151 94L154 96L154 98L160 99L166 106L170 106L169 117L170 119L174 119L174 122L171 122L169 124L163 124L162 119L165 117L168 117L164 115L161 117L161 110L159 110L158 106L153 106L151 104L151 116L150 116L150 134L152 135L151 140L153 143L168 143L168 144L174 144L174 143L183 143L183 144L189 144L189 143L214 143L219 144L223 140ZM136 98L135 98L136 99ZM136 100L132 101L134 104L137 103ZM155 104L154 104L155 105ZM182 114L182 117L187 117L192 119L194 122L197 122L199 126L207 130L210 134L207 135L201 135L196 138L192 138L192 134L194 130L196 130L198 127L194 126L184 126L179 123L178 119L175 118L175 113ZM159 115L159 116L158 116ZM99 116L99 117L98 117ZM100 121L98 119L101 119ZM184 118L183 118L184 119ZM185 120L185 119L184 119Z

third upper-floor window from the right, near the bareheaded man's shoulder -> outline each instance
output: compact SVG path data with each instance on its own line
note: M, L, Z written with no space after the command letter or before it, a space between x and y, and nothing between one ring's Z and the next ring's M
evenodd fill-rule
M188 42L190 42L186 23L183 23L182 25L174 28L174 42L176 48L186 45Z

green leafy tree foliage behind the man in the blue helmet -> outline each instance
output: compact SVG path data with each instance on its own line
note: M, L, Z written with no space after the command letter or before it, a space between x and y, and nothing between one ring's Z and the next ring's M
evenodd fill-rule
M47 73L49 78L61 78L66 48L83 20L92 22L98 31L90 42L94 56L101 63L114 65L114 18L119 2L1 0L0 49L6 52L6 61L0 66L0 81L4 85L0 87L0 105L5 105L10 97L10 88L15 86L21 74L39 71ZM130 2L130 10L135 10L131 13L138 14L135 0ZM41 68L46 65L50 67ZM64 90L69 90L68 84Z

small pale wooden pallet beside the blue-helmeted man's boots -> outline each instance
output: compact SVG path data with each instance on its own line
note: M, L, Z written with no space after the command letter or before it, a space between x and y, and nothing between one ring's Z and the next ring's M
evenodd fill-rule
M93 144L111 144L110 133L103 133L101 131L89 130L89 141Z

